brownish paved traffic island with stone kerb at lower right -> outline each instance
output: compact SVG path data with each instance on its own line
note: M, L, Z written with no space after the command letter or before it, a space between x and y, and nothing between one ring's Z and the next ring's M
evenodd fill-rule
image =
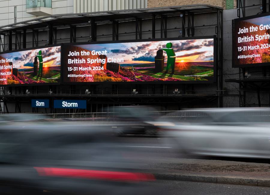
M144 168L157 179L270 186L270 164L184 158L166 162L155 159Z

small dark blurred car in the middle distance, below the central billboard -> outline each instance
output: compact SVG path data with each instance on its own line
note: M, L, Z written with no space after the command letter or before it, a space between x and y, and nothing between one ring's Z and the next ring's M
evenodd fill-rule
M158 118L155 116L157 109L149 106L122 106L115 107L116 125L113 131L118 135L147 134L157 135L159 129L153 125Z

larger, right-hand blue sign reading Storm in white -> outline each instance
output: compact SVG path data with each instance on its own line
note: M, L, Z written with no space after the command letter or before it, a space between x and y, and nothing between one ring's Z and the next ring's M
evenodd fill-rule
M54 100L53 107L86 109L86 100Z

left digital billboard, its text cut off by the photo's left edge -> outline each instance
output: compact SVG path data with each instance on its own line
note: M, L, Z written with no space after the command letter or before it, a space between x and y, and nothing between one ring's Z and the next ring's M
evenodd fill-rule
M0 53L0 85L60 82L61 46Z

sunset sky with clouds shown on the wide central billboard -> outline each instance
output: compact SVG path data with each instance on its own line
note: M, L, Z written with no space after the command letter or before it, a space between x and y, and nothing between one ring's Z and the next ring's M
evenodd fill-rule
M158 49L165 48L169 42L173 44L173 49L177 56L176 62L213 61L213 39L87 44L77 46L90 51L107 50L107 57L124 58L124 62L120 64L141 64L154 62ZM165 55L166 60L166 52L163 55Z

